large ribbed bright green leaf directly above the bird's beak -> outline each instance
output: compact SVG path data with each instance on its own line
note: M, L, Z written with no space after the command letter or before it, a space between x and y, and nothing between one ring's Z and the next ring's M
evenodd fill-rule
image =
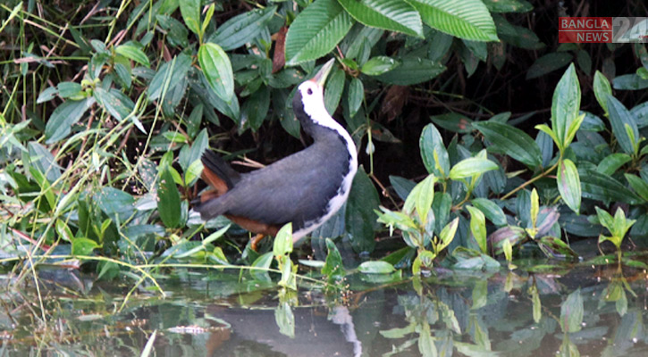
M286 34L286 64L316 60L328 54L353 25L336 0L316 0L299 12Z

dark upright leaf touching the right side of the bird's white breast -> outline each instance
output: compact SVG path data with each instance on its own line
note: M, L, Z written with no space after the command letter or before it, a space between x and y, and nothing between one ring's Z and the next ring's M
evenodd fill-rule
M360 168L353 179L344 219L353 250L358 253L374 250L374 229L378 228L374 211L379 204L374 184Z

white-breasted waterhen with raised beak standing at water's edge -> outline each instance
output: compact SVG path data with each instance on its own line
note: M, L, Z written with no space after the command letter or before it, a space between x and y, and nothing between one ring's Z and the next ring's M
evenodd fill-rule
M313 138L312 145L248 173L233 170L214 152L203 154L202 179L214 188L195 207L203 220L224 215L257 233L252 242L256 249L262 237L274 236L288 222L297 242L340 210L358 170L358 154L347 130L324 108L324 81L333 62L300 84L292 99L292 110Z

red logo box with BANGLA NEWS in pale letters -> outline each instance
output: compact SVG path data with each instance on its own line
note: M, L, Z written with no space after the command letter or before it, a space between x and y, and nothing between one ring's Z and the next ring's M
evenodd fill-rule
M560 17L558 42L594 44L612 42L611 17Z

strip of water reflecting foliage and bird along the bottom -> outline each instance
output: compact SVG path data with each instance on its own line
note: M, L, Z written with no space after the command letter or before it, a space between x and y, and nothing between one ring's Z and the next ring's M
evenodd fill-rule
M624 273L455 272L383 288L351 278L344 303L189 273L166 282L170 297L142 288L122 310L109 283L80 295L50 281L44 310L29 286L4 292L0 338L16 356L139 355L153 331L157 356L648 355L646 274Z

